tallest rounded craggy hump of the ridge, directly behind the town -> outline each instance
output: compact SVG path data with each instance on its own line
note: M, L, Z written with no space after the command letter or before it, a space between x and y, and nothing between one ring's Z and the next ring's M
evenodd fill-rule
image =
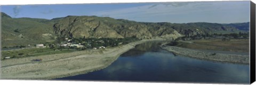
M123 37L93 17L65 17L53 25L53 31L62 37Z

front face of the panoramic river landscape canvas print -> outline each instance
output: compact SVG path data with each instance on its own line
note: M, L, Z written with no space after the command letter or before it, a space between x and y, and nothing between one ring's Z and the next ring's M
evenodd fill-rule
M1 5L1 79L250 83L250 1Z

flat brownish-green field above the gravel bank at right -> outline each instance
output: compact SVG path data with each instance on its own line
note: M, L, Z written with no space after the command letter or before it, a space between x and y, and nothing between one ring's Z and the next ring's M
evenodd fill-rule
M191 40L178 41L178 43L177 46L188 49L249 52L248 39L234 39L230 41L222 41L221 39Z

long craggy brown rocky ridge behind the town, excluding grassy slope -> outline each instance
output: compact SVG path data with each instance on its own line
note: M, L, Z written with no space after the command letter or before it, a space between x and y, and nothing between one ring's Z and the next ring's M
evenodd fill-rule
M110 17L67 16L53 25L55 35L60 37L138 37L151 39L156 36L179 37L177 31L159 26L141 24Z

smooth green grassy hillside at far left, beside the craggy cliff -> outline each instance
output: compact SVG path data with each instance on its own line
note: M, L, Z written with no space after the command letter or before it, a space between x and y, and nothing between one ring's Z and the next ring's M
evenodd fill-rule
M47 20L36 18L9 18L2 17L2 46L28 45L43 43L53 37L42 34L53 34L52 24L44 23ZM14 32L18 29L19 32ZM23 38L19 37L22 35Z

